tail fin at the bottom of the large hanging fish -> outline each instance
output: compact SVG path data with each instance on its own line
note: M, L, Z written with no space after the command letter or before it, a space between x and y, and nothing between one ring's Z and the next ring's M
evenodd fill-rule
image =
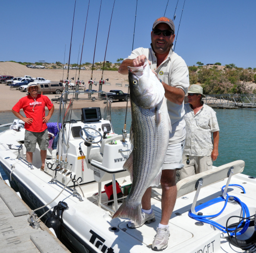
M118 208L118 210L113 215L114 218L129 218L137 224L141 225L141 204L131 205L128 197L124 200L124 203Z

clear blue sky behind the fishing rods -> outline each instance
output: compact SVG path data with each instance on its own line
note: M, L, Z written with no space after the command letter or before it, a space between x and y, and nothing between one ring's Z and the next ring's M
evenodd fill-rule
M82 46L89 0L77 0L71 63L77 63ZM102 0L95 62L103 61L114 0ZM179 0L176 35L184 0ZM68 61L75 0L8 0L1 2L0 61L63 63ZM167 0L138 0L134 48L150 46L156 18L163 16ZM173 18L177 0L169 0L165 16ZM92 62L100 0L91 0L82 63ZM136 0L116 0L106 60L130 55ZM186 0L175 52L187 65L234 63L256 67L255 0ZM81 52L81 50L80 50ZM79 56L80 62L80 56Z

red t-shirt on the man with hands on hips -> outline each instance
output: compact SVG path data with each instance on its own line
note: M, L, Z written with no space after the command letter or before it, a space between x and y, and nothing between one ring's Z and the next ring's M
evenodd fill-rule
M34 100L31 95L27 95L23 98L20 98L12 110L19 112L20 109L23 109L26 117L33 119L31 124L25 123L25 129L31 132L40 133L47 129L46 123L42 123L42 118L46 116L46 106L48 110L51 110L53 107L51 100L47 96L37 94Z

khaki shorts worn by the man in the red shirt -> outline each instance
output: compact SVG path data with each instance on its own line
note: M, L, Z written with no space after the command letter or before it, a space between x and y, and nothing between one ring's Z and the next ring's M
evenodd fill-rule
M40 133L31 132L28 130L25 131L24 145L27 149L27 152L34 152L36 143L38 143L39 148L41 150L47 150L47 147L49 145L49 137L48 137L47 129Z

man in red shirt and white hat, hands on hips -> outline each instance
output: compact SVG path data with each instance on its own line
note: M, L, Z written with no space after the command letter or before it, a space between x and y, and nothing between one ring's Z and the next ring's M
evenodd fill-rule
M27 149L27 161L32 163L33 152L35 151L36 143L38 143L42 161L41 170L44 170L49 142L46 123L53 114L54 106L47 96L38 94L40 90L40 85L34 82L30 83L27 88L29 94L19 99L18 103L12 108L12 112L17 118L25 122L24 144ZM49 110L47 116L46 106ZM26 117L19 113L20 109L23 109Z

